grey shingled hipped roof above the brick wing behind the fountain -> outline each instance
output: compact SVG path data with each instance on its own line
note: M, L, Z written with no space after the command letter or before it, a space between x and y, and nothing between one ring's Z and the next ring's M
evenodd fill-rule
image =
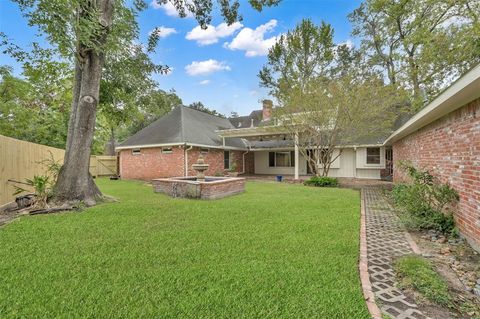
M177 106L119 146L190 143L222 147L222 138L215 131L232 128L234 126L228 119ZM225 139L225 146L246 148L240 138Z

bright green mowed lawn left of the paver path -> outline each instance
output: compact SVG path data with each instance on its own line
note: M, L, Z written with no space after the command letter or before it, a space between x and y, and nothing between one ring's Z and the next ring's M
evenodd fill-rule
M250 182L172 199L97 180L119 199L0 228L0 318L368 318L359 194Z

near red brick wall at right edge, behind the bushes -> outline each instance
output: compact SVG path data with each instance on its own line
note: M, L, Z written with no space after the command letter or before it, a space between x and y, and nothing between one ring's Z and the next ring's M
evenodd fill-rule
M460 194L455 219L480 248L480 99L438 119L393 145L394 181L405 181L399 160L428 169Z

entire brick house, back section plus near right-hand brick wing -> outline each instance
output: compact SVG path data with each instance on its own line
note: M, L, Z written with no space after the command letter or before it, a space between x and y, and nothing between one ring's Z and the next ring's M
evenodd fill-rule
M232 167L245 174L308 175L306 159L278 127L273 129L271 117L269 100L262 110L230 119L176 107L116 148L120 175L147 180L193 175L191 165L200 153L210 164L207 175ZM394 182L401 182L406 176L395 166L400 160L428 169L459 192L458 228L480 250L479 119L477 65L390 136L339 147L330 175L380 179L393 173Z

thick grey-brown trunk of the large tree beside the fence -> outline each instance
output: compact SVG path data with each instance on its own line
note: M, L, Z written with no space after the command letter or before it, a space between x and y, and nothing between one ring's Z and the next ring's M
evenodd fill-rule
M99 23L105 32L96 39L105 43L113 16L113 0L99 0L92 10L99 9ZM77 47L72 111L68 126L65 159L54 188L57 203L95 205L102 194L89 173L90 152L95 130L95 117L103 68L103 53L92 48Z

